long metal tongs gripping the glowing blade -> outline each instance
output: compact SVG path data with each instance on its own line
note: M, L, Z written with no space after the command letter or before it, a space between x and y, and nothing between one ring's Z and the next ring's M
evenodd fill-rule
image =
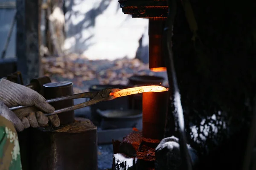
M80 94L73 94L73 95L69 95L69 96L63 96L63 97L57 97L54 99L49 99L49 100L46 100L47 103L58 102L58 101L68 100L68 99L91 98L87 102L83 102L78 105L73 105L73 106L70 106L67 108L58 109L58 110L55 110L53 113L47 113L45 115L51 116L51 115L58 114L58 113L63 113L63 112L67 112L67 111L73 111L76 109L84 108L84 107L94 105L99 102L113 100L113 99L116 99L116 97L111 96L110 93L114 93L114 92L120 91L120 90L121 89L119 89L119 88L105 88L101 91L85 92L85 93L80 93ZM22 109L22 108L26 108L26 107L29 107L29 106L15 106L15 107L12 107L9 109L13 111L16 109Z

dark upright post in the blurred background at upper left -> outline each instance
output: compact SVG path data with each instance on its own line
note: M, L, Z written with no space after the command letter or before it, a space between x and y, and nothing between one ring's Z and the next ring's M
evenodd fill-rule
M24 83L27 84L30 79L40 76L38 22L41 0L16 0L16 11L17 70L22 73Z

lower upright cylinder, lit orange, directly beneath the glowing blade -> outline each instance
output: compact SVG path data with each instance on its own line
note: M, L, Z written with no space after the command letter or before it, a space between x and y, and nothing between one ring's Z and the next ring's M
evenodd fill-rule
M168 91L143 93L143 137L163 139L168 96Z

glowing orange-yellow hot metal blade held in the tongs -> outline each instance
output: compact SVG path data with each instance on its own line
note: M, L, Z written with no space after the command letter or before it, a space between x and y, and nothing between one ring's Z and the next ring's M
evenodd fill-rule
M135 88L122 89L120 91L110 93L109 95L115 96L115 97L121 97L121 96L128 96L131 94L144 93L144 92L161 92L161 91L168 91L168 90L169 90L168 88L162 87L160 85L147 85L147 86L140 86Z

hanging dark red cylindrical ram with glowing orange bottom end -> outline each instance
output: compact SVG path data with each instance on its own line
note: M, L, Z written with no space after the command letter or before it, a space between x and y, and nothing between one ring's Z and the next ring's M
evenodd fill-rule
M149 68L154 72L166 71L163 51L163 31L166 18L148 19Z

